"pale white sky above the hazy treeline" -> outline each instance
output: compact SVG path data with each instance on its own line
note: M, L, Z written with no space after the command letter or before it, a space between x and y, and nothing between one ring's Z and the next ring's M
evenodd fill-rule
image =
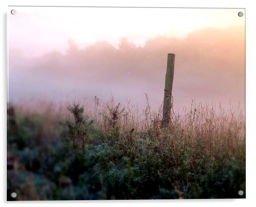
M206 27L244 26L244 9L196 8L15 8L9 14L9 47L34 56L67 48L68 39L80 47L97 41L118 46L122 36L143 46L155 36L182 38ZM18 32L19 31L19 32ZM30 49L31 46L32 48ZM25 50L26 48L26 50ZM35 51L38 49L37 51Z

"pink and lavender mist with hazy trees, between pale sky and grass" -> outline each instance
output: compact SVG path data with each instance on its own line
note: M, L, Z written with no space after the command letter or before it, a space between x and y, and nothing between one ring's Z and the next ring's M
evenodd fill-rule
M25 49L25 48L24 48ZM31 50L31 48L30 48ZM56 50L56 51L54 51ZM145 104L163 101L167 54L175 53L174 106L191 99L245 108L245 34L241 27L206 28L183 39L158 36L137 47L121 38L119 47L95 42L86 48L69 41L65 55L52 48L28 58L9 48L9 102L20 100L79 100Z

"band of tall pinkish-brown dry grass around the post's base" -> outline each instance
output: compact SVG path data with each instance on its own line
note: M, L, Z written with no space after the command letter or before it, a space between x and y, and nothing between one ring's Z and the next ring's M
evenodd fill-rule
M118 127L120 137L133 130L134 139L143 140L148 139L145 132L150 131L161 143L169 135L191 146L205 143L204 147L216 156L222 151L239 153L245 150L241 148L245 147L245 113L239 107L233 109L231 104L230 109L224 109L221 104L202 104L192 100L189 109L170 110L171 123L167 129L161 129L162 106L152 110L147 94L144 106L132 105L130 101L116 103L114 97L104 102L95 96L94 100L77 102L32 102L16 105L15 109L18 114L40 115L42 131L58 133L61 130L60 122L73 119L68 107L75 103L84 108L84 116L93 120L94 128L101 131L103 136L113 130L110 120L116 113L115 127Z

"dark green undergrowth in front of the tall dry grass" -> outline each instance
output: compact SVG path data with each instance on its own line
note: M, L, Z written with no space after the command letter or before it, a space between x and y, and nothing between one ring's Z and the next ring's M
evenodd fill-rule
M8 126L8 193L20 193L19 200L245 198L238 195L245 192L243 143L236 153L213 153L208 140L191 142L176 126L121 131L119 108L108 107L113 133L104 134L83 107L69 107L74 119L47 144L40 116L15 116Z

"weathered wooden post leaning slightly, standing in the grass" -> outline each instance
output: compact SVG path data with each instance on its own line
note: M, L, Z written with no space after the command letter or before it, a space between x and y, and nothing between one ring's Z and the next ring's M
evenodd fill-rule
M174 60L175 54L168 53L167 56L167 69L165 74L165 92L164 92L164 105L163 105L163 119L162 128L170 125L171 120L171 98L172 88L174 81Z

